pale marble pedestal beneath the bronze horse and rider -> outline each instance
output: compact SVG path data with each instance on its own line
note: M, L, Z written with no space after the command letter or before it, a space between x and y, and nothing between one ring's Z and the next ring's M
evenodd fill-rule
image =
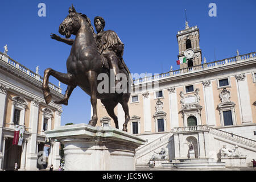
M133 171L135 149L145 143L125 131L84 123L45 133L64 144L66 171Z

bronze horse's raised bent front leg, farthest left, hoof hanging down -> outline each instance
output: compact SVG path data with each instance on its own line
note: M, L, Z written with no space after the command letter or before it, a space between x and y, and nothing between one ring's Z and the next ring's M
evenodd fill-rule
M46 100L46 104L49 104L49 102L51 102L51 100L52 100L52 95L49 92L49 86L48 86L49 76L51 76L51 75L53 77L57 78L57 80L59 80L60 82L63 82L63 84L75 86L74 78L70 73L60 73L51 68L47 68L44 71L44 80L43 80L43 85L42 85L44 100Z

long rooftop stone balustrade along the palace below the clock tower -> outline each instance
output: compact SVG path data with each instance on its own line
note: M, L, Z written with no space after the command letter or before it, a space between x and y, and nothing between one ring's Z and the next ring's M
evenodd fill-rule
M158 81L158 80L162 80L164 78L176 77L176 76L181 76L181 75L187 75L190 73L201 72L201 71L205 71L205 70L209 70L209 69L225 67L227 65L237 64L237 63L241 63L243 61L250 61L251 59L256 59L256 52L251 52L251 53L247 53L245 55L230 57L230 58L227 58L224 60L213 61L210 63L204 63L204 64L197 65L195 67L192 67L192 68L177 69L177 70L166 72L166 73L160 73L160 74L155 74L152 76L146 76L143 78L135 79L133 83L134 83L134 85L145 84L147 82Z

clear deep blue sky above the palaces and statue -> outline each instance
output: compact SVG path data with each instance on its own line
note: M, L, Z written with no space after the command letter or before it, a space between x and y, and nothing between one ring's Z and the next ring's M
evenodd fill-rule
M38 4L46 4L46 17L38 16ZM209 3L217 5L217 16L210 17ZM132 73L168 72L176 65L177 31L185 28L184 9L189 26L200 30L200 48L207 61L233 57L256 49L256 1L2 1L0 50L8 45L9 55L20 64L43 76L46 68L67 72L66 60L71 46L50 38L59 35L59 24L71 4L93 22L94 16L106 21L105 30L114 30L125 44L123 58ZM73 36L72 36L73 38ZM53 84L58 81L51 77ZM61 84L63 93L67 88ZM88 123L90 97L76 88L69 105L63 106L61 125Z

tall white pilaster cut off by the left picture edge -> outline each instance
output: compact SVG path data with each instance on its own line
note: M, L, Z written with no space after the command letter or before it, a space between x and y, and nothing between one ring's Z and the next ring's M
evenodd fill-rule
M5 122L5 111L6 111L6 96L9 88L0 83L0 170L2 169L3 163L3 123Z

